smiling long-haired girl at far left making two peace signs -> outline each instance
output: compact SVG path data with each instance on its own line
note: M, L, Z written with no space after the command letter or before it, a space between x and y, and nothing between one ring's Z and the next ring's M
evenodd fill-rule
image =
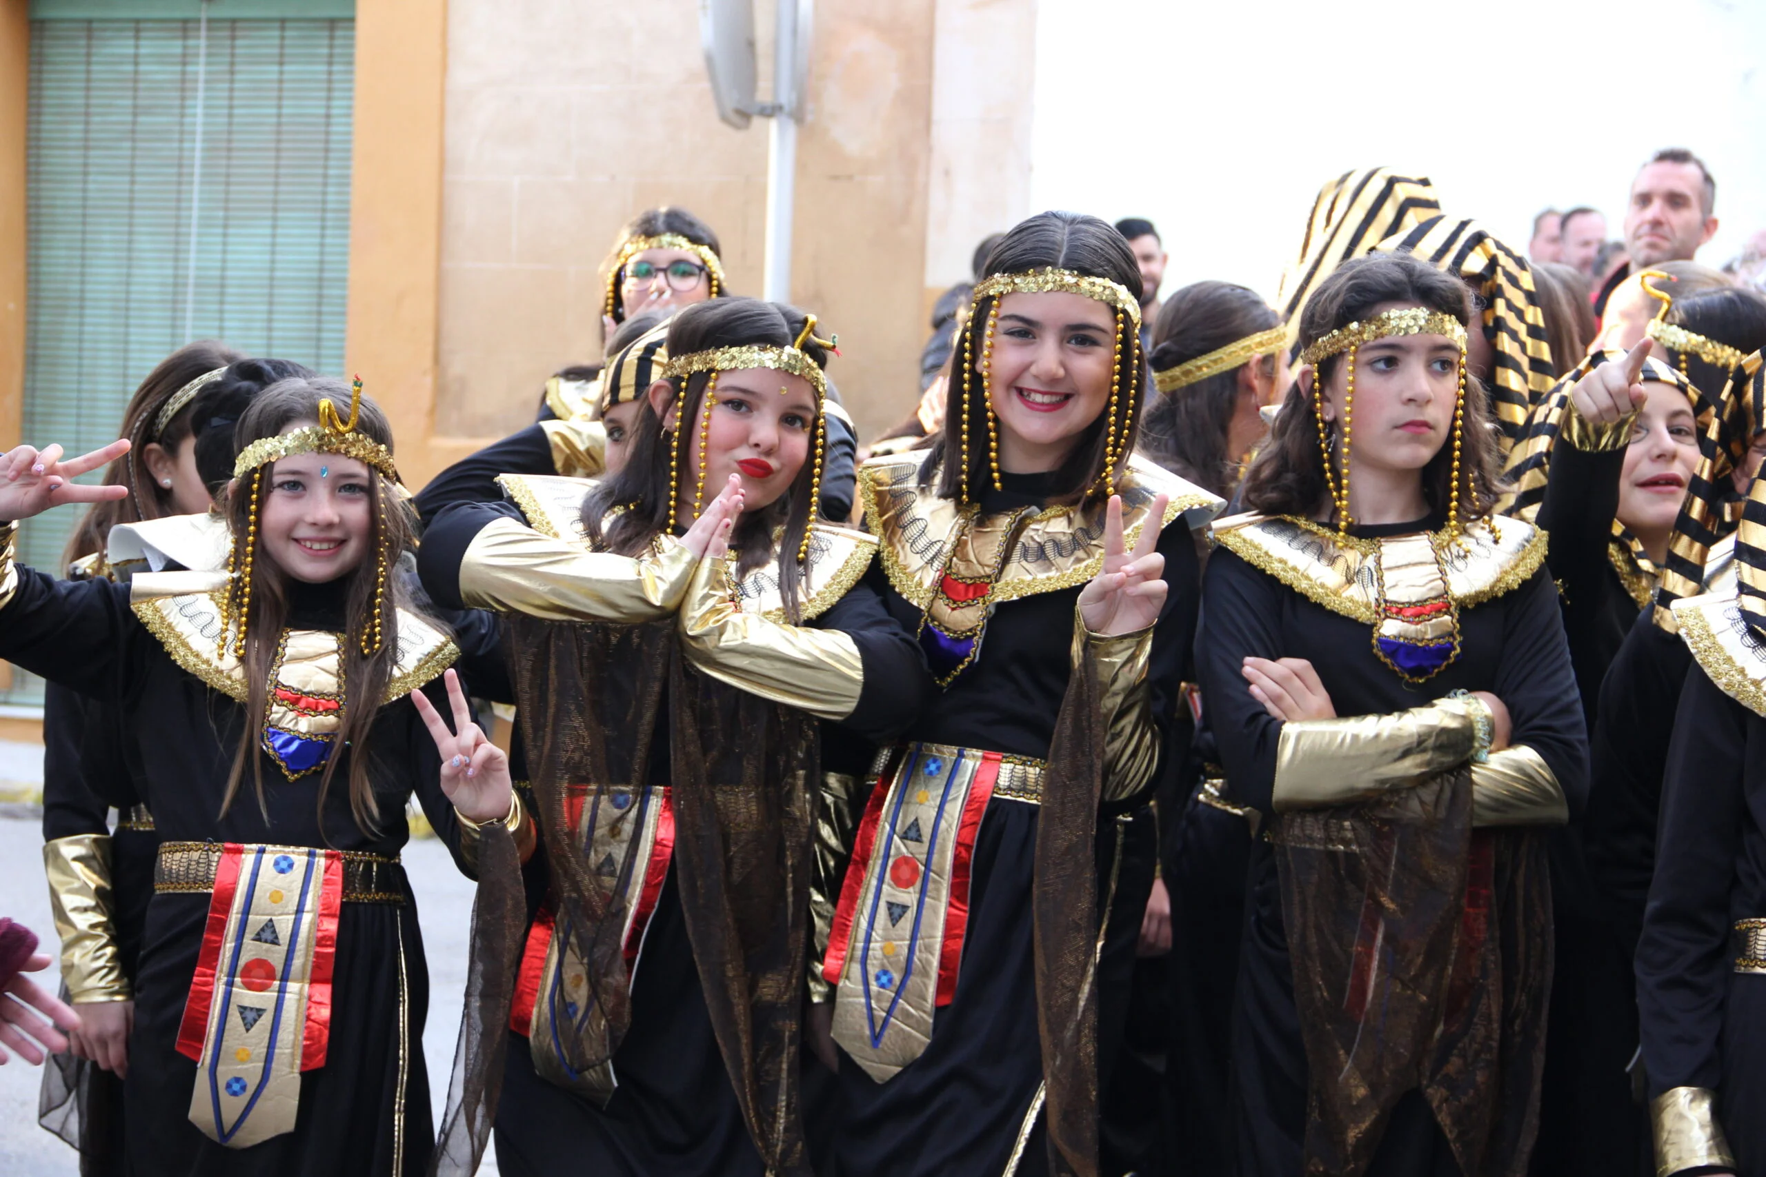
M404 805L470 865L470 819L503 821L509 798L450 780L406 702L456 649L389 579L410 526L385 418L358 394L288 379L247 408L226 572L58 582L12 561L7 524L0 656L124 716L161 838L125 1078L145 1172L429 1163ZM127 494L71 482L127 445L12 450L0 514Z

